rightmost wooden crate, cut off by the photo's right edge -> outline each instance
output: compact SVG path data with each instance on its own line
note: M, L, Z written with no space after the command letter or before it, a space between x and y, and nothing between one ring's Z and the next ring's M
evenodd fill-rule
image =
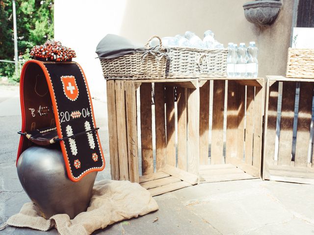
M314 184L313 79L267 76L263 179Z

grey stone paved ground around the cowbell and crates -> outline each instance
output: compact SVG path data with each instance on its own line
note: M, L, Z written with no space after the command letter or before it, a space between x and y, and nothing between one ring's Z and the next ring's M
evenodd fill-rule
M106 105L94 100L110 178ZM29 201L15 158L21 128L18 87L0 86L0 228ZM243 180L209 183L155 197L159 211L96 231L102 235L313 235L314 186ZM158 217L158 220L153 221ZM5 235L57 234L6 227Z

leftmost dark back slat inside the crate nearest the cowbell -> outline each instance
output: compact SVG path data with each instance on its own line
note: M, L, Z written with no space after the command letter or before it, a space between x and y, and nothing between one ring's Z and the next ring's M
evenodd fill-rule
M142 174L154 172L152 135L152 83L140 86Z

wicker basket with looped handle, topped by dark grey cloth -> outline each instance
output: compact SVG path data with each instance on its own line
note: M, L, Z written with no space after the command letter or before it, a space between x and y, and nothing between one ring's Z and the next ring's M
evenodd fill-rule
M159 51L149 48L149 42L158 38ZM145 45L146 51L137 51L129 55L116 58L100 58L105 79L136 80L136 79L164 79L169 59L166 49L162 47L161 39L151 37Z

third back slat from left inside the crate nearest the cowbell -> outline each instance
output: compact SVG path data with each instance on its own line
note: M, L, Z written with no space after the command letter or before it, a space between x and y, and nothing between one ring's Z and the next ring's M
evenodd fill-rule
M176 166L174 87L166 87L167 164Z

